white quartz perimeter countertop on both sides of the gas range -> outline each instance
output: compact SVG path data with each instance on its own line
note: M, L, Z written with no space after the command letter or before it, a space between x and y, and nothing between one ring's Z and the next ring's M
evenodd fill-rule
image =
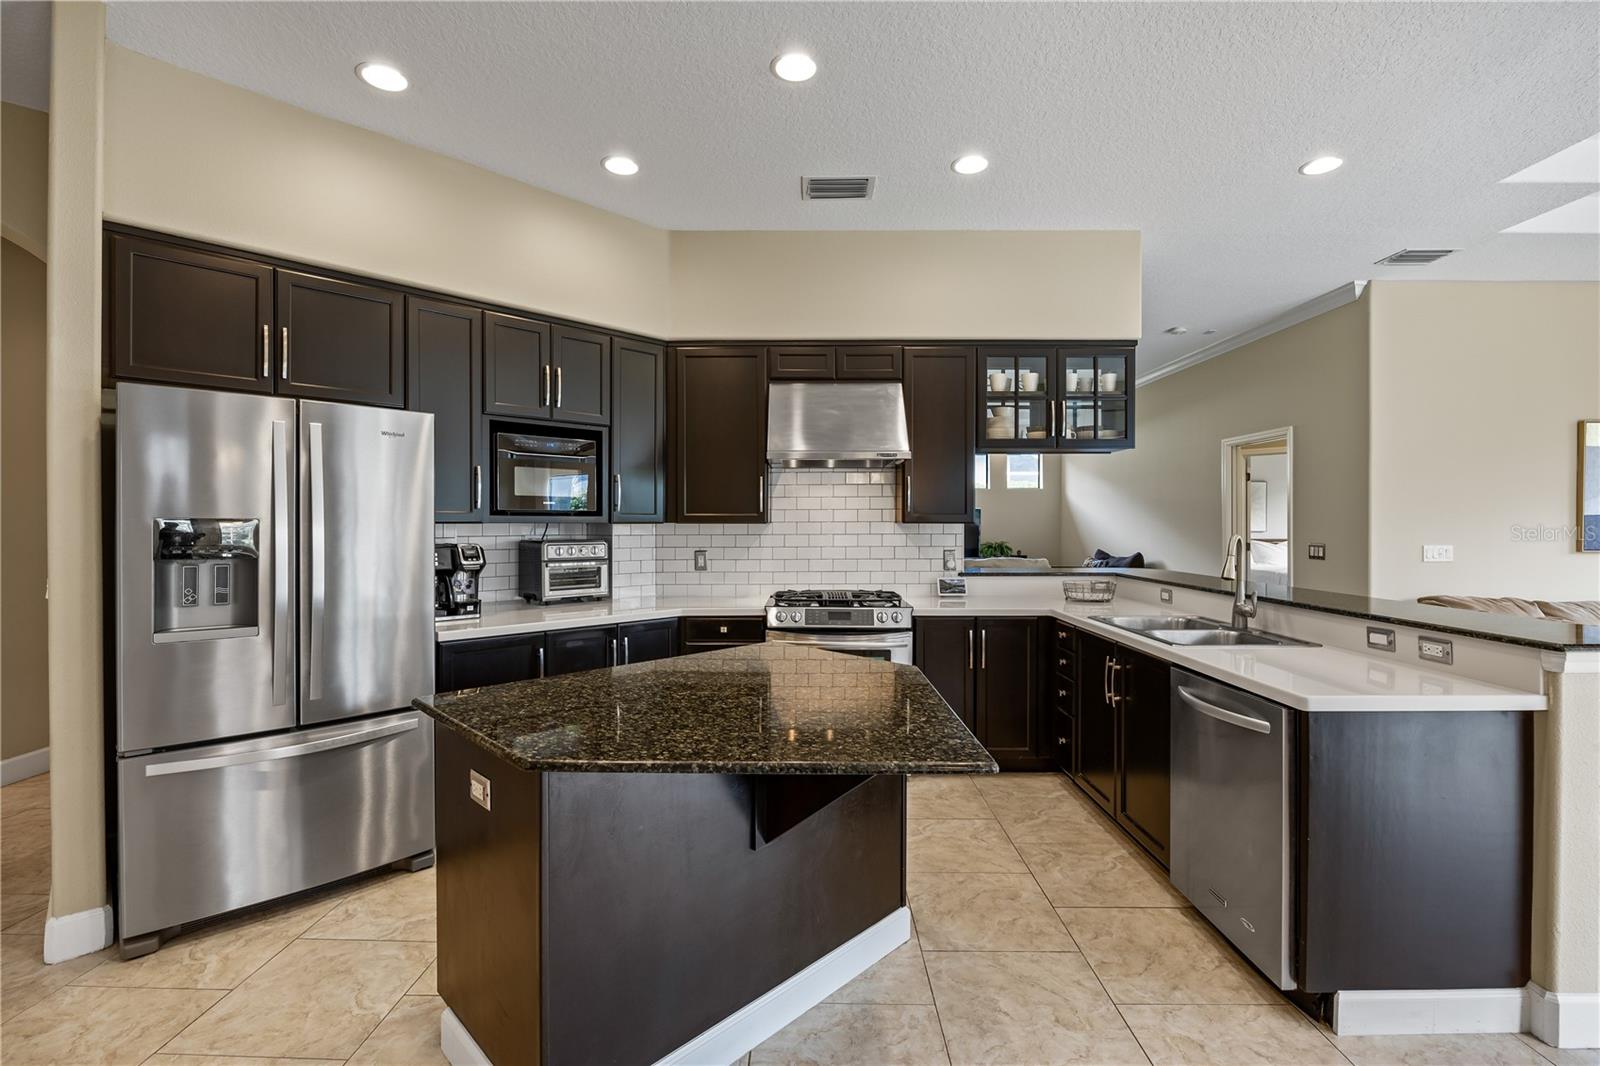
M909 594L917 618L1056 618L1085 632L1166 659L1195 674L1235 685L1299 711L1544 711L1539 691L1523 691L1466 677L1446 669L1411 666L1395 656L1379 656L1336 647L1173 647L1093 621L1094 615L1165 615L1157 603L1125 599L1112 603L1067 603L1059 586L1051 594L968 595L941 599ZM438 624L440 642L502 637L584 626L614 626L650 618L694 615L765 615L765 597L685 599L653 605L570 603L523 607L486 603L470 623ZM1179 611L1184 613L1184 611ZM1214 616L1226 616L1219 613ZM1283 626L1259 626L1301 635Z

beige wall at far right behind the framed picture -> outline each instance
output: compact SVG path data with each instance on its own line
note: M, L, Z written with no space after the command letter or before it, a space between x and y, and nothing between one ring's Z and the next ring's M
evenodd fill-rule
M1600 599L1600 554L1573 551L1600 285L1374 282L1370 299L1373 594Z

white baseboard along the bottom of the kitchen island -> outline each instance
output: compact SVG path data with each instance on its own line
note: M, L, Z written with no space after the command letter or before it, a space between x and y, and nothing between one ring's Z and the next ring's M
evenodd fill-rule
M656 1066L723 1066L741 1058L907 940L910 940L910 911L901 908L688 1044L664 1055ZM451 1066L491 1066L483 1048L448 1007L438 1020L438 1042Z

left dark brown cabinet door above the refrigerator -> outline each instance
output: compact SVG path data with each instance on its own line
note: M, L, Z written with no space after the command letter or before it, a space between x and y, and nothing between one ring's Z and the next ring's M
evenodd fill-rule
M110 373L272 391L272 267L114 235Z

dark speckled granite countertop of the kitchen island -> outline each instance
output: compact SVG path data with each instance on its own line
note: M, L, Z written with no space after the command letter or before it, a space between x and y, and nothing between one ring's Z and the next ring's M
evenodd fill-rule
M915 667L786 643L467 688L413 706L523 770L998 768Z

